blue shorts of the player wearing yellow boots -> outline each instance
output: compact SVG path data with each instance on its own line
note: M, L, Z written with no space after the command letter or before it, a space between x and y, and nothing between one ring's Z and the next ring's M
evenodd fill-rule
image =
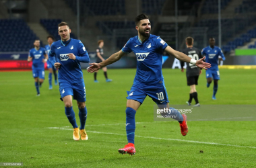
M59 93L61 93L61 100L66 95L72 95L73 99L79 102L86 101L86 87L84 81L80 83L59 83Z

